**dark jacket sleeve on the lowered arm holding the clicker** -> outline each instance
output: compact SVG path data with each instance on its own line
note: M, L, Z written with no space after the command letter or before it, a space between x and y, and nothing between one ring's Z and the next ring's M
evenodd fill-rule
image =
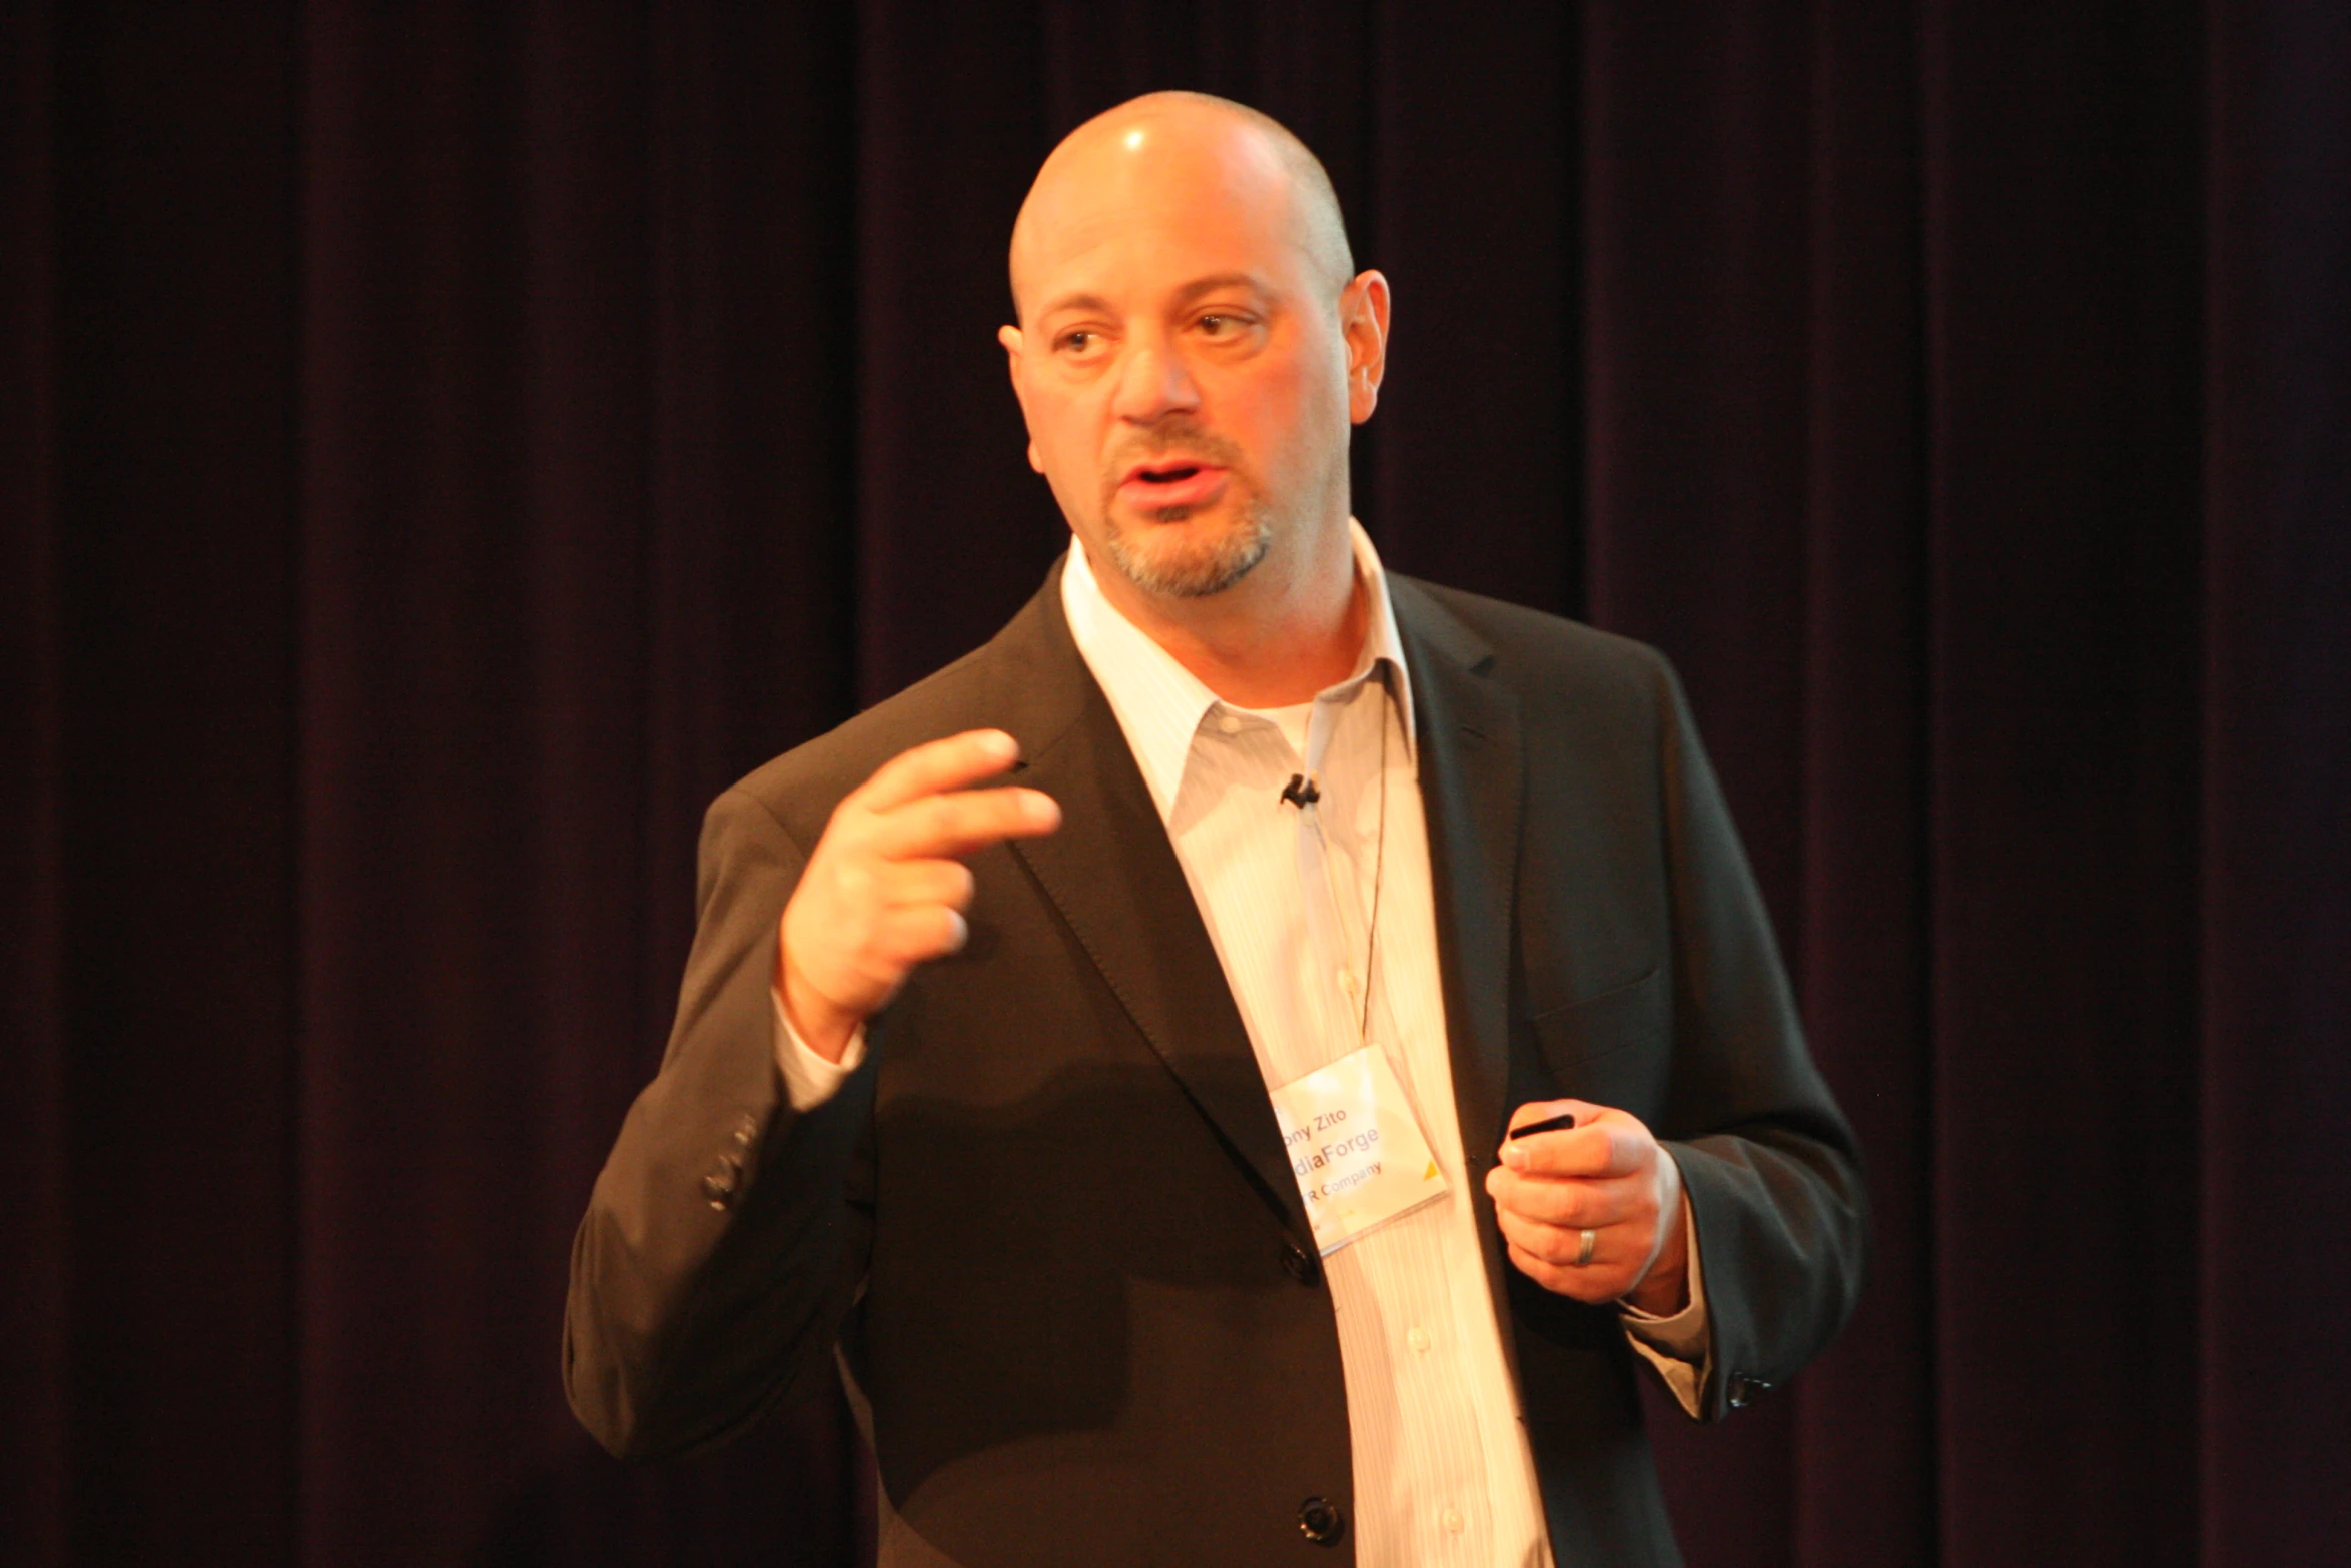
M1660 790L1674 943L1667 1117L1704 1258L1721 1420L1813 1359L1853 1312L1864 1197L1853 1128L1813 1067L1770 919L1665 661Z

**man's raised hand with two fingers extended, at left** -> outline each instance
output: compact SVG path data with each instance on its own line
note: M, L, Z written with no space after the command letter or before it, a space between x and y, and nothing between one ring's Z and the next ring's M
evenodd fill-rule
M962 788L1018 755L1002 729L971 729L891 757L835 806L776 945L785 1013L825 1060L842 1060L917 964L964 945L973 884L962 856L1060 827L1041 790Z

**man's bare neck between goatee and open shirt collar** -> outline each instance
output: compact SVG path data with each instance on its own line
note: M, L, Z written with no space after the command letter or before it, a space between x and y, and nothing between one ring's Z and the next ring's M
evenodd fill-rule
M1234 708L1291 708L1354 675L1371 595L1345 529L1338 555L1258 562L1225 592L1166 599L1117 569L1098 569L1103 597L1145 637Z

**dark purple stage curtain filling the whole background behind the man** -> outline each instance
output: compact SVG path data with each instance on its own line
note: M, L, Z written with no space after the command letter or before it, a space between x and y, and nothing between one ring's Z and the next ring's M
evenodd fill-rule
M623 1469L571 1227L703 802L1063 527L1004 240L1204 87L1396 292L1392 564L1681 665L1876 1199L1697 1566L2351 1540L2351 14L0 12L0 1559L851 1563Z

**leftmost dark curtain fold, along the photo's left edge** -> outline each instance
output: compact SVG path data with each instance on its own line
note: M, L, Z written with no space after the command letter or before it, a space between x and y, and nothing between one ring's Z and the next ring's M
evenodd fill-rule
M0 1530L28 1561L292 1542L287 21L9 9L0 491L31 701L0 771L12 969L40 973L5 1034L33 1124L0 1206L38 1251L7 1288L35 1366Z

